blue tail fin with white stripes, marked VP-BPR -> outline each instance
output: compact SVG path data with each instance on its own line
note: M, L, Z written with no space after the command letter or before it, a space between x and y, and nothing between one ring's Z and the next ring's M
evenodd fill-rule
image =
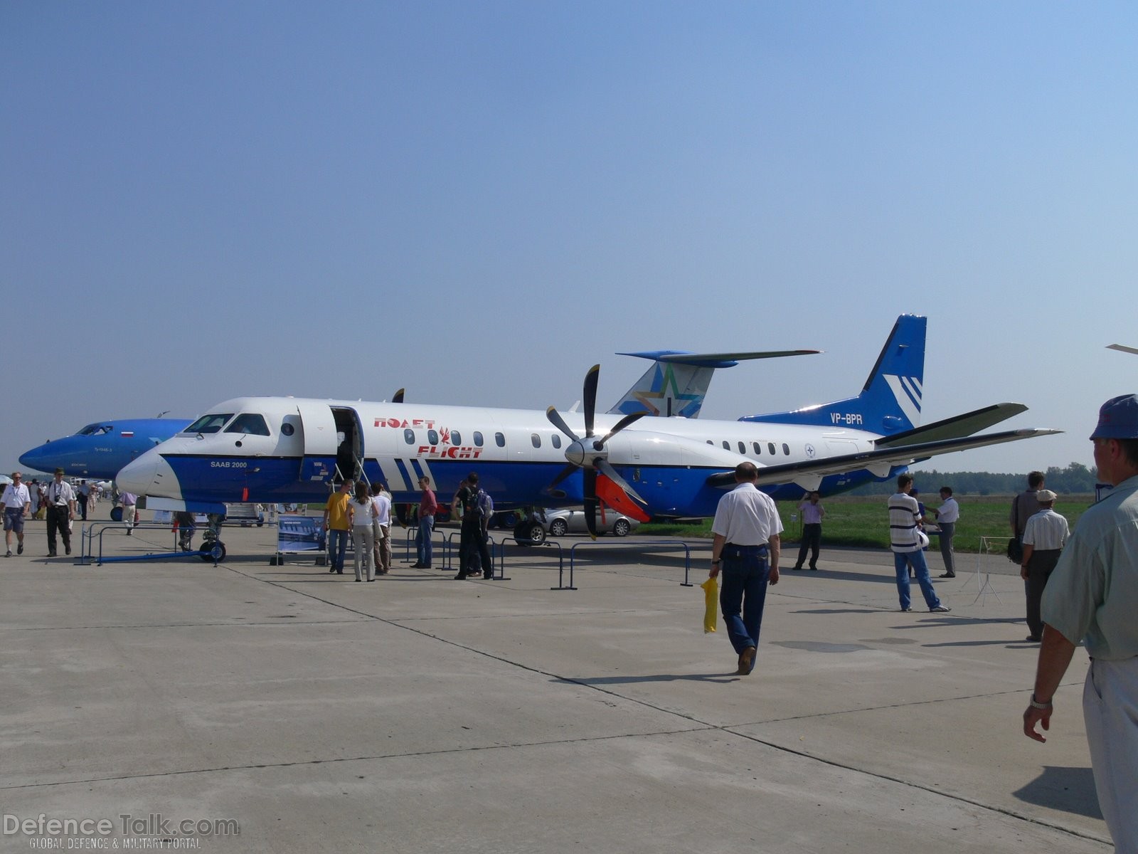
M775 421L871 430L890 436L921 425L926 318L902 314L856 397L790 412L747 416L741 421Z

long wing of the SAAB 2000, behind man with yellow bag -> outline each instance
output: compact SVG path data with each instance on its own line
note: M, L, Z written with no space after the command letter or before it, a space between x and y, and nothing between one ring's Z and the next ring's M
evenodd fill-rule
M816 488L816 484L825 475L838 475L842 471L869 469L879 477L885 477L893 466L908 466L913 462L953 451L968 451L973 447L998 445L1004 442L1019 442L1022 438L1049 436L1063 430L1052 430L1029 427L1020 430L989 433L983 436L963 436L959 438L939 440L935 442L918 442L897 447L881 447L864 453L847 453L839 457L823 457L803 462L787 462L781 466L764 466L759 468L759 485L797 483L803 488ZM735 473L725 471L711 475L708 483L712 486L734 486ZM809 484L815 484L810 486Z

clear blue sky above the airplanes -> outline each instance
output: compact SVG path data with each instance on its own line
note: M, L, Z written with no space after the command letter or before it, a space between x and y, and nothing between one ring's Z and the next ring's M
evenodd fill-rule
M929 317L925 420L1138 391L1138 6L0 5L0 466L244 394L544 409L618 351L855 393Z

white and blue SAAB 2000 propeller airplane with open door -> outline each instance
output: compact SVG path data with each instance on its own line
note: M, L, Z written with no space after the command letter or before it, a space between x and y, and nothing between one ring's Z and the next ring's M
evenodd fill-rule
M999 403L921 427L925 318L901 315L861 392L828 404L737 421L584 412L237 397L118 473L158 509L223 512L226 502L322 502L340 477L382 483L417 501L430 476L448 494L477 470L500 508L599 502L626 515L710 516L743 460L777 499L885 479L935 454L1058 433L975 435L1026 410ZM650 373L652 371L650 370ZM618 409L619 409L618 404Z

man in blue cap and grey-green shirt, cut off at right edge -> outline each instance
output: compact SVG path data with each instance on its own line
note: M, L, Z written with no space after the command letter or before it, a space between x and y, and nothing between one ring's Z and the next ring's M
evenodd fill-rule
M1138 852L1138 395L1098 411L1098 479L1111 494L1079 519L1044 591L1044 642L1023 732L1045 741L1052 697L1082 641L1082 714L1098 803L1120 852Z

